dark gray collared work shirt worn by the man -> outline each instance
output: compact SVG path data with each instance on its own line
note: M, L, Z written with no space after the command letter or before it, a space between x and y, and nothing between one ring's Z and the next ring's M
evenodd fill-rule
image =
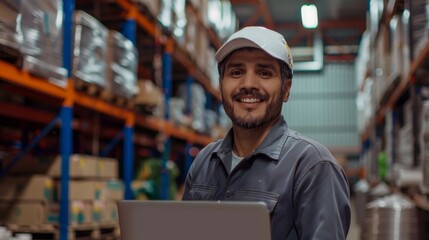
M263 201L272 240L346 239L349 187L341 166L321 144L281 120L230 172L232 130L198 154L183 200Z

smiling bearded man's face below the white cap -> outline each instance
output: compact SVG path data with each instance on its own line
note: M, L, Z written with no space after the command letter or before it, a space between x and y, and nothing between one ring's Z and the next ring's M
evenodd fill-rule
M278 61L260 49L233 52L220 85L225 112L248 129L276 121L290 90L290 81L282 85Z

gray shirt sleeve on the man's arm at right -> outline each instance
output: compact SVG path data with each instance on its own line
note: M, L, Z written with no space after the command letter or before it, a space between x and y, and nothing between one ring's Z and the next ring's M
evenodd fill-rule
M339 165L319 161L302 173L294 191L299 239L345 240L350 227L350 194Z

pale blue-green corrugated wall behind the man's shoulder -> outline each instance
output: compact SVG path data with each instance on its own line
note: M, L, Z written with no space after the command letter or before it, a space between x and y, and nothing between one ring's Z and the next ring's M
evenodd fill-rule
M325 62L320 72L296 72L282 113L291 129L330 149L356 151L356 77L352 62Z

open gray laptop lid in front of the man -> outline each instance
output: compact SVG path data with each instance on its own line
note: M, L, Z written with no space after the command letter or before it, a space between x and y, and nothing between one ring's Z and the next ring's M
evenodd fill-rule
M122 200L122 240L270 240L263 202Z

